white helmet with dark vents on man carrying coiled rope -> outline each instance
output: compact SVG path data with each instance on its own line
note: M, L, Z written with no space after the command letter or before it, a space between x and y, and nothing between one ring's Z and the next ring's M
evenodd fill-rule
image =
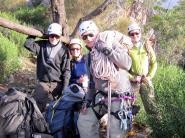
M83 21L80 26L79 26L79 33L80 36L82 36L83 33L88 32L88 31L97 31L98 27L96 24L92 21Z

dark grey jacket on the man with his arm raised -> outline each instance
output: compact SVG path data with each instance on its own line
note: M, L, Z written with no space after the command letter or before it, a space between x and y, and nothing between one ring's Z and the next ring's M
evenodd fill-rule
M28 38L24 47L37 55L37 78L41 82L59 82L65 88L70 78L70 57L67 47L61 43L61 48L56 55L50 59L47 47L48 40L35 41Z

